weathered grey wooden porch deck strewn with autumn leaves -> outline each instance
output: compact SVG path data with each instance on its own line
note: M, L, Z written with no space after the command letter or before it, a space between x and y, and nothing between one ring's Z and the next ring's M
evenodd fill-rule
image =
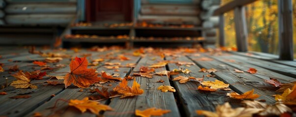
M92 93L89 89L99 88L101 86L90 86L89 88L78 88L77 86L69 86L65 89L62 85L45 85L36 84L37 89L19 89L9 86L9 84L16 80L11 75L15 72L9 72L9 67L18 65L19 70L34 71L39 70L41 67L34 65L34 60L43 61L45 58L37 54L29 54L27 49L14 48L14 47L1 47L0 48L0 63L3 63L4 72L0 72L0 92L6 92L7 95L0 95L0 116L7 117L32 117L36 112L42 114L43 117L47 116L61 116L61 117L95 117L95 114L90 112L81 112L68 106L67 102L57 101L60 98L65 100L82 99L85 97L97 97L98 93ZM136 77L135 80L140 84L140 88L144 93L131 98L109 98L100 101L100 103L109 105L113 111L101 112L105 117L135 117L135 109L145 110L147 108L156 107L160 109L171 110L170 113L164 114L164 117L197 117L196 110L209 110L215 111L218 104L230 102L233 107L239 107L240 101L238 99L229 98L227 93L237 92L242 94L244 92L255 90L255 94L259 94L260 98L265 99L266 103L273 104L275 99L273 95L281 94L275 92L278 88L266 83L264 80L269 78L276 78L282 83L290 83L296 81L296 61L277 60L275 56L262 53L238 53L238 52L194 52L186 53L188 51L176 51L171 56L166 55L163 59L158 54L146 53L144 57L133 56L135 50L106 50L103 52L88 51L85 49L75 53L73 50L55 51L71 55L71 57L87 56L88 61L92 59L104 59L95 68L98 72L106 71L110 74L118 73L121 78L128 76L130 73L136 73L141 66L149 66L161 60L169 61L184 61L194 62L196 65L177 65L176 63L168 63L165 67L156 68L155 72L163 70L172 71L173 69L188 69L191 71L189 74L181 73L180 75L172 75L170 78L166 76L153 75L153 78ZM44 52L54 52L52 50L44 50ZM165 52L174 52L174 50L164 50ZM118 55L123 54L130 60L120 61L114 59ZM108 55L108 56L107 56ZM203 59L201 59L203 58ZM64 58L58 63L47 63L50 67L54 68L56 64L65 64L65 67L55 68L53 70L45 70L50 76L64 76L63 74L56 74L54 72L69 72L70 58ZM136 63L134 69L130 67L120 67L115 72L114 69L107 69L104 67L105 62L121 62L122 65L127 63ZM217 70L215 73L199 72L201 68ZM256 74L249 74L249 68L257 69ZM236 73L234 69L242 70L244 73ZM213 75L215 77L206 77ZM172 78L178 76L185 77L204 77L205 81L214 81L215 79L221 80L224 83L230 84L231 91L217 90L215 92L206 92L195 90L199 85L198 81L190 80L185 84L180 84L178 81L172 81ZM7 78L7 79L6 79ZM32 82L43 82L48 80L49 77L45 76L40 80L32 80ZM163 83L156 82L164 80ZM109 87L111 91L113 87L117 86L120 82L113 82L103 84ZM128 81L129 85L133 84L133 80ZM161 92L157 88L161 85L170 85L176 89L176 92ZM30 98L10 98L14 96L29 95ZM256 100L257 100L256 99ZM54 110L50 107L54 106L57 101L57 106ZM295 110L295 109L294 109ZM295 116L295 113L294 113Z

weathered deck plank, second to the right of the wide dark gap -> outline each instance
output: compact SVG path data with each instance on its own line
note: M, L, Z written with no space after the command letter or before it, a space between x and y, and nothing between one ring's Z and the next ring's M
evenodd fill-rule
M204 57L204 56L201 56ZM230 84L230 88L237 93L244 93L255 89L254 93L259 94L261 97L258 99L266 99L267 103L274 103L274 97L272 95L276 94L276 88L264 82L262 78L258 78L249 73L236 73L234 68L229 65L225 65L219 61L200 61L194 60L201 57L189 57L193 59L197 65L202 68L211 69L214 68L217 72L212 73L217 79Z

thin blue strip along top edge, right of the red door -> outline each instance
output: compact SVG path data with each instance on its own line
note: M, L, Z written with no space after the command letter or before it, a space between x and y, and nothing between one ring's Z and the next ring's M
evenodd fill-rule
M163 3L163 4L200 4L201 0L141 0L142 4Z

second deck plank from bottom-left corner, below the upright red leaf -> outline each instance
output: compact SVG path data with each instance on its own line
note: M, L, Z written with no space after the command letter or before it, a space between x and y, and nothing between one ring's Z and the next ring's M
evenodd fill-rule
M127 63L136 63L139 59L139 57L131 57L131 56L127 56L127 57L131 58L131 60L119 61L117 59L114 59L114 60L110 60L109 62L121 62L122 65L125 65ZM97 69L97 71L99 71L99 72L106 71L107 73L118 73L120 75L120 77L124 78L131 71L131 68L121 67L121 68L118 68L118 70L120 70L120 71L114 72L113 69L111 69L111 70L106 69L106 68L104 68L104 66ZM115 87L118 84L118 82L117 83L108 83L108 84L111 84L112 85L111 87ZM105 86L107 86L107 84L105 84ZM110 87L110 86L107 86L107 87ZM112 90L111 87L109 88L110 90ZM48 107L54 106L54 102L59 98L69 100L69 99L82 99L82 98L89 97L89 96L98 96L99 94L97 94L97 93L88 92L88 89L93 89L93 88L101 89L102 87L91 86L89 88L85 88L83 90L83 92L79 92L79 90L81 88L78 88L76 86L71 86L71 87L63 90L61 93L56 95L54 98L52 98L47 103L44 103L43 105L39 106L34 111L32 111L31 113L27 114L26 117L32 117L35 112L40 112L40 113L42 113L43 116L51 116L54 113L55 115L62 116L62 117L66 117L66 116L70 116L70 115L71 115L71 117L96 117L96 115L91 114L91 113L81 114L80 111L69 107L67 102L60 102L54 112L51 109L47 109ZM108 99L100 101L100 103L108 104ZM60 110L62 110L62 111L60 111Z

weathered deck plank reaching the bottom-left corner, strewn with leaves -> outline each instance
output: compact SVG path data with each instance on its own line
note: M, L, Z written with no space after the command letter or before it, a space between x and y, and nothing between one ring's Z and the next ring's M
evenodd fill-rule
M93 52L92 58L98 58L98 55L105 55L109 51L106 52ZM107 60L108 61L108 60ZM65 67L63 69L57 70L56 72L69 72L70 68ZM55 76L57 74L51 73L49 75ZM63 74L58 74L59 76L65 75ZM42 82L45 81L45 79L41 79L38 81L34 82ZM38 89L15 89L12 86L6 87L0 91L5 91L8 94L4 95L3 97L0 97L0 109L5 108L6 111L1 111L0 115L6 115L6 116L24 116L27 113L31 112L35 108L37 108L40 104L43 104L44 102L48 101L51 99L52 94L59 94L61 91L64 90L64 85L56 85L56 86L44 86L42 84L37 85ZM8 97L15 96L16 94L21 94L21 93L28 93L32 97L28 99L18 99L18 101L15 101L16 99L11 99ZM34 101L31 101L34 100Z

